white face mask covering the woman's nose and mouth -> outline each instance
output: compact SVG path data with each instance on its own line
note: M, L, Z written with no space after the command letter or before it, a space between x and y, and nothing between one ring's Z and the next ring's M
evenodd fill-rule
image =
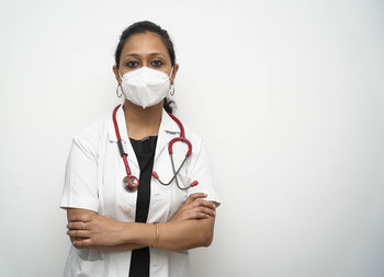
M121 76L118 71L122 79L120 88L127 100L146 108L160 103L168 96L170 91L169 78L172 72L173 67L170 76L147 67L126 72L124 76Z

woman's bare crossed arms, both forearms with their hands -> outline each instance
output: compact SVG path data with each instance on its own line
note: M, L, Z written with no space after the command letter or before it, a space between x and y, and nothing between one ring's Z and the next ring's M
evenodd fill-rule
M211 245L215 204L203 200L205 196L192 194L168 222L157 223L157 247L179 251ZM156 241L156 227L151 223L122 222L78 208L67 209L67 234L77 249L127 251L151 246Z

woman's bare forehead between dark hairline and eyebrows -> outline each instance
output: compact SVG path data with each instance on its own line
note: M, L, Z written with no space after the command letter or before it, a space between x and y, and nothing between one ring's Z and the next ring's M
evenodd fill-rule
M163 54L169 57L168 49L160 35L153 32L145 32L132 35L124 44L122 57L128 54L149 55L154 53Z

